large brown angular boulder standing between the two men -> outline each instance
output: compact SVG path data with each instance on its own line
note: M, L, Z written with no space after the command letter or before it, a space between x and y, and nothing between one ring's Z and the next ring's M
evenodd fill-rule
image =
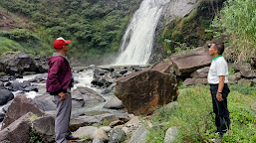
M172 73L148 69L133 72L117 80L115 94L124 102L128 113L148 114L158 105L177 98L176 78Z

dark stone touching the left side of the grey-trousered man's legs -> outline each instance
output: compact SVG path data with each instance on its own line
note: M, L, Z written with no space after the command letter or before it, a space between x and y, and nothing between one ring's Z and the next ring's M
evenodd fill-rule
M44 116L32 121L33 130L40 134L43 142L55 141L55 118Z

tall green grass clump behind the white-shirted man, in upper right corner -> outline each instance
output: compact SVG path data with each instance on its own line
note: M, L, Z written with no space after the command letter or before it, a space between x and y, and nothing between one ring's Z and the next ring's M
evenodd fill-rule
M212 22L216 35L226 33L236 61L250 61L256 55L255 0L228 0Z

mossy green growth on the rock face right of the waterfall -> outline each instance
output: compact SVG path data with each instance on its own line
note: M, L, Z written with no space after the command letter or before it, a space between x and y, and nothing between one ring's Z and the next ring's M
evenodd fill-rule
M221 9L221 3L208 0L197 1L197 7L184 18L175 18L157 38L168 55L180 53L182 50L202 46L213 38L214 34L205 32Z

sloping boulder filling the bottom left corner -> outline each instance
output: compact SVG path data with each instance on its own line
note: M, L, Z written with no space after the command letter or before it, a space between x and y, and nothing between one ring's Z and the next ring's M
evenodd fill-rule
M1 143L28 143L31 131L31 116L28 112L0 131Z

